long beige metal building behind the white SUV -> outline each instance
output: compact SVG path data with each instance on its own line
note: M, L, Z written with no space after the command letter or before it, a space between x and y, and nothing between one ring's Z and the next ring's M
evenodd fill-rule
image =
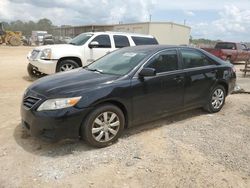
M75 37L90 31L121 31L153 35L160 44L189 44L191 28L172 22L141 22L114 25L85 25L56 28L61 36Z

